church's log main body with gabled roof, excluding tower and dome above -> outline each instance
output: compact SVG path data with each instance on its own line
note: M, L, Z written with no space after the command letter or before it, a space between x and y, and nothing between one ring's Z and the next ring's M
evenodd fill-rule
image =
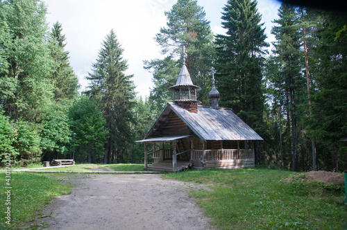
M193 113L167 103L144 139L137 142L161 143L151 152L152 166L162 168L171 162L175 170L178 161L191 163L194 168L254 167L254 150L249 147L259 140L262 138L232 109L198 105L197 113ZM170 149L168 144L164 148L164 143L170 143Z

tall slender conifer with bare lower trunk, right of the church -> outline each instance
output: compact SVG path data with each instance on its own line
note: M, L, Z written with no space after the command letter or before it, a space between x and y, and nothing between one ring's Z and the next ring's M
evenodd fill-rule
M285 116L287 117L287 136L291 139L292 167L299 170L298 144L301 134L300 112L298 107L301 104L301 96L305 89L305 80L301 73L302 65L300 62L301 40L298 33L298 15L294 6L282 3L278 10L279 19L274 20L279 26L273 26L272 32L278 42L274 42L275 50L273 53L278 59L277 85L282 88L281 100L284 104ZM279 90L281 90L279 88ZM289 138L289 136L291 138Z

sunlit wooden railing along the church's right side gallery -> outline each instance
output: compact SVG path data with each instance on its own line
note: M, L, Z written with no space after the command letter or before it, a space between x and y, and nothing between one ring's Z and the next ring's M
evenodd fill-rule
M254 150L194 150L192 152L192 160L221 161L235 159L254 159Z

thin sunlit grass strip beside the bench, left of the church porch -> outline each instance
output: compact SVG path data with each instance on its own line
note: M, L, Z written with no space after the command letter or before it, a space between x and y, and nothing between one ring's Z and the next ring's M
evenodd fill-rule
M139 163L115 163L115 164L92 164L92 165L76 165L76 166L69 166L69 167L57 167L57 168L46 168L42 170L49 170L49 171L58 171L58 172L93 172L93 171L99 171L99 172L110 172L111 170L115 171L143 171L144 164Z

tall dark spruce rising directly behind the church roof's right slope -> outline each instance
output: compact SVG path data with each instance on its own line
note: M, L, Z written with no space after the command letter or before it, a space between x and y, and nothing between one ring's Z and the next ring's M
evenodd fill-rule
M242 120L262 134L264 107L262 67L264 66L264 24L257 2L229 0L222 12L226 35L217 35L217 86L220 104L231 107Z

